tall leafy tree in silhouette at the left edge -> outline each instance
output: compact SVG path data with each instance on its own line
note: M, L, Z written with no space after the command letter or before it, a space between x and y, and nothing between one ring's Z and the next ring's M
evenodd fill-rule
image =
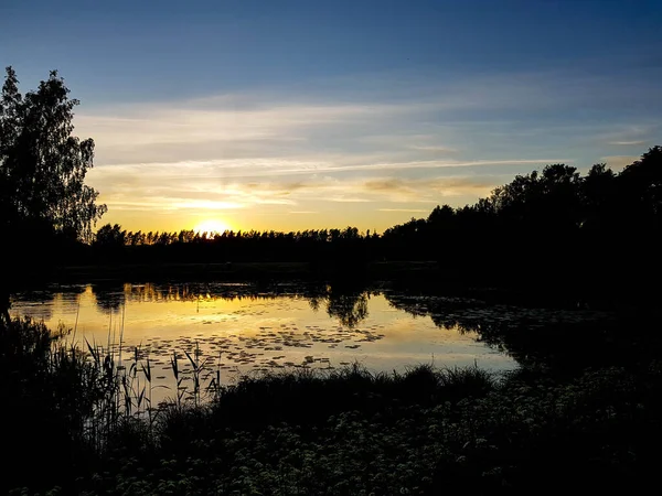
M0 223L3 231L49 230L90 241L106 212L98 192L84 184L94 141L73 136L78 100L57 72L24 96L11 67L0 99Z

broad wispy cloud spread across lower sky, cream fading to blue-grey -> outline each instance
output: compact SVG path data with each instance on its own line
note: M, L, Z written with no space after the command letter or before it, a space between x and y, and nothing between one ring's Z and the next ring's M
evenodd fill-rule
M436 203L474 202L517 171L594 163L599 154L579 150L581 139L644 144L654 125L568 123L562 116L578 108L601 116L607 101L620 108L622 83L540 73L419 80L399 85L406 94L365 90L362 98L246 93L87 108L75 122L76 133L97 144L90 184L110 213L127 217L341 216L367 211L362 204L371 212L423 213ZM652 89L643 89L650 97ZM604 158L613 168L633 159Z

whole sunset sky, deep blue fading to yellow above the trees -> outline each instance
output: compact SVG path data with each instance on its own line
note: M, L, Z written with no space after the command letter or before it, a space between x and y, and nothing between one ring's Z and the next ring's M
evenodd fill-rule
M383 231L516 174L662 144L658 0L2 0L130 230Z

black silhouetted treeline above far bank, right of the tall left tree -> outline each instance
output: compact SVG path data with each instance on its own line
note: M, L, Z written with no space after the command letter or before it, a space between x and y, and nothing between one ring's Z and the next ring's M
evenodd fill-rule
M384 234L345 229L127 231L105 225L96 261L433 260L447 277L503 281L645 279L659 271L662 148L616 173L605 164L580 174L553 164L517 175L474 205L437 206L427 218Z

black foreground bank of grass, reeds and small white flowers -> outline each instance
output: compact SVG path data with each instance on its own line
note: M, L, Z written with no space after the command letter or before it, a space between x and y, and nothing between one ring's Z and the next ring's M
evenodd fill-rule
M1 325L10 494L615 494L660 460L660 362L563 379L299 369L136 416L149 364L129 359L125 375L40 324Z

